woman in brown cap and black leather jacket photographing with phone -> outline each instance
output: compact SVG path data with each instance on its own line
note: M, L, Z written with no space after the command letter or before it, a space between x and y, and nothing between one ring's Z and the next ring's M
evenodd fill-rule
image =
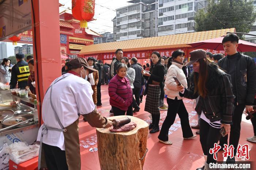
M206 163L203 168L197 170L210 169L210 163L217 160L209 153L214 148L214 143L218 143L222 127L225 134L230 132L232 123L234 95L232 93L230 75L227 75L219 67L206 57L206 52L202 49L194 50L190 53L191 58L187 65L193 64L193 82L190 90L184 86L178 86L180 96L196 99L196 112L201 114L200 118L200 143L203 149Z

